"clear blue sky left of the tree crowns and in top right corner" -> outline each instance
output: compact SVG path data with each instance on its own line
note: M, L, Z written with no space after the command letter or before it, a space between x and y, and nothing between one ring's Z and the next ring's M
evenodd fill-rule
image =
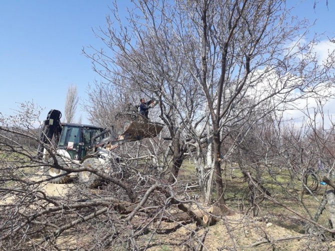
M124 8L127 1L122 3ZM297 4L294 14L318 19L314 31L334 37L335 4L319 0L289 0ZM63 111L69 85L78 87L80 99L86 87L99 77L83 46L100 47L92 28L105 25L110 0L0 0L0 112L12 114L17 103L33 101L42 108L41 120L50 109ZM87 123L84 111L82 122Z

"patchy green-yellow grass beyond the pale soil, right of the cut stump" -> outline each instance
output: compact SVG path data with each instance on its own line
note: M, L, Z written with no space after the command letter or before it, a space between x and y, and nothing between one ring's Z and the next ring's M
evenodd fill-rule
M226 205L235 212L247 212L250 207L247 180L243 178L242 173L235 166L227 165L222 173L225 186L224 199ZM262 185L270 192L271 196L275 200L286 205L292 211L301 214L306 219L314 218L323 199L324 192L329 189L327 186L321 186L318 184L319 190L317 193L309 195L306 191L303 191L303 186L299 178L292 178L292 175L287 170L279 170L275 168L273 168L270 172L266 169L253 170L251 175L252 177L258 177L258 180L261 181ZM189 164L188 161L184 161L180 169L179 180L180 179L193 179L196 181L194 166ZM308 185L309 182L311 181L308 181ZM213 189L212 198L216 198L215 188ZM265 199L260 202L258 207L258 217L266 218L266 221L270 221L285 229L289 229L300 234L305 233L307 222L282 206ZM325 227L329 227L328 219L329 214L326 210L324 210L318 219L318 223Z

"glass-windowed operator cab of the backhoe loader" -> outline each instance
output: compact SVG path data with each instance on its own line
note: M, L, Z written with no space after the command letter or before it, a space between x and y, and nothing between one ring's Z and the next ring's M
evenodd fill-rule
M80 161L86 156L86 149L91 139L101 133L103 128L72 123L61 123L58 149L65 150L72 160Z

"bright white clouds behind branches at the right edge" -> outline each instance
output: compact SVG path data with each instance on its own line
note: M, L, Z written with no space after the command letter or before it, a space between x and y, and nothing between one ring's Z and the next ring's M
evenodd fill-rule
M329 43L322 42L315 46L315 50L318 50L317 55L320 63L328 57L328 53L331 53L329 48L332 47L326 47L325 45L328 46ZM297 88L293 89L294 86L303 83L302 78L292 75L279 77L274 70L265 72L265 69L256 71L253 79L258 80L248 88L246 95L252 98L254 102L259 102L259 100L283 88L278 94L272 96L270 102L266 102L266 105L277 106L281 110L285 110L284 112L278 112L278 115L280 113L284 120L290 120L297 126L311 120L319 125L324 123L326 127L335 122L335 86L329 87L328 84L324 83L306 88L302 93ZM283 103L284 99L291 99L292 101Z

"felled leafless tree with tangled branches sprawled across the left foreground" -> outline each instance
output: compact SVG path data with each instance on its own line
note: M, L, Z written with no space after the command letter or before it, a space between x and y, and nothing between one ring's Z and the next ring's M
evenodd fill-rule
M78 239L82 242L79 241L77 245L79 249L126 247L125 249L135 250L149 245L150 241L138 245L136 239L146 233L148 226L157 230L162 219L177 222L195 220L199 225L204 224L200 217L188 213L188 202L176 198L164 179L153 177L152 170L150 175L146 174L149 166L142 163L142 171L139 170L139 158L131 158L132 143L122 146L122 149L114 153L117 158L111 158L98 169L83 168L75 163L63 165L58 162L54 146L49 145L44 147L53 159L52 162L34 158L36 150L22 145L16 139L25 137L40 143L37 131L30 130L37 118L38 113L35 114L31 106L25 107L14 117L0 117L2 250L59 249L66 243L62 243L58 237L72 228L79 230L81 227L80 234L87 238ZM107 184L103 194L94 195L95 192L91 193L82 186L84 184L75 184L73 187L64 185L67 187L66 196L63 194L65 197L50 196L46 191L50 179L41 172L41 167L46 166L60 169L65 174L92 172L103 177ZM106 172L107 170L109 171ZM184 215L181 218L173 212L171 215L168 209L171 207ZM19 214L15 213L16 209ZM149 218L144 217L138 221L137 216L143 216L143 212L150 212ZM115 218L116 215L118 219ZM157 222L158 226L154 226ZM93 232L89 230L89 236L84 234L85 226L93 227Z

